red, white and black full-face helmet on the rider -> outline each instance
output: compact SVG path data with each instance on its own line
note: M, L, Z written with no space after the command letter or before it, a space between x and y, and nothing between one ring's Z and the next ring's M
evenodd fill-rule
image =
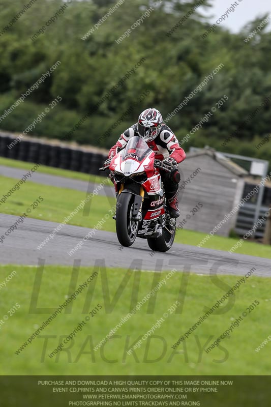
M145 141L154 140L160 133L163 123L162 114L155 108L142 111L138 118L138 134Z

